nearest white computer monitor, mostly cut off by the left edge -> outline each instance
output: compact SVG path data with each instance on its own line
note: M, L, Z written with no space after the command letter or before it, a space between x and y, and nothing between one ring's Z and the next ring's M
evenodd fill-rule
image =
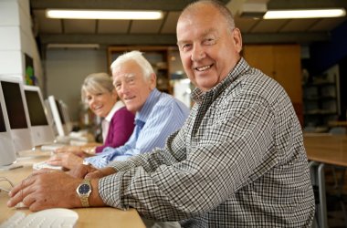
M8 122L7 112L5 109L5 100L2 88L0 87L0 168L9 166L16 161L16 150L13 145Z

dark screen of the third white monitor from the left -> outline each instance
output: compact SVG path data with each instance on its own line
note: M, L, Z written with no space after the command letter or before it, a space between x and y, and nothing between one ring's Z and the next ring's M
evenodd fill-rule
M48 125L44 107L37 91L25 90L31 126Z

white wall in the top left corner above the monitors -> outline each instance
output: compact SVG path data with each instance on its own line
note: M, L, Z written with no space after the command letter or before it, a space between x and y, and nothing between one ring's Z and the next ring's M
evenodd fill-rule
M25 53L33 58L35 75L42 81L37 43L31 29L28 0L0 2L0 74L24 78Z

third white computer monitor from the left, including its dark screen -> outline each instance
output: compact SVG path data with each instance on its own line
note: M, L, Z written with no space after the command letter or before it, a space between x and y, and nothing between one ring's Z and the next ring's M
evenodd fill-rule
M24 86L26 105L29 112L30 131L34 146L51 143L55 140L52 125L47 118L41 90L35 86Z

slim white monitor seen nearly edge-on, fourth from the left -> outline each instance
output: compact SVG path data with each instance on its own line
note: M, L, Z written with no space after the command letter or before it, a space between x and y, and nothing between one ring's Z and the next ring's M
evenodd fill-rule
M68 132L64 128L65 125L65 119L63 116L62 109L59 105L59 102L56 98L54 98L53 95L48 96L48 106L50 108L50 111L52 113L54 126L56 127L56 130L58 131L58 136L67 136Z

